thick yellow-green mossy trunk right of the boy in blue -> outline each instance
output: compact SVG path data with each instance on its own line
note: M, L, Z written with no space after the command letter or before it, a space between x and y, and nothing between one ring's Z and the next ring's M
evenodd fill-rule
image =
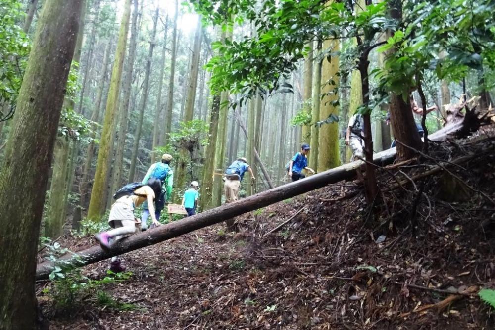
M335 53L339 51L337 40L326 40L323 43L323 51ZM323 58L321 67L321 85L324 95L320 103L320 120L327 119L330 115L338 115L339 108L333 104L338 100L334 92L339 85L339 57L327 55ZM339 157L339 124L337 122L323 124L318 136L318 171L325 171L340 165Z

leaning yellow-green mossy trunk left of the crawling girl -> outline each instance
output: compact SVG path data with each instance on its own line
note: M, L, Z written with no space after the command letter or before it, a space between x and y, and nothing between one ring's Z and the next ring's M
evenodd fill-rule
M125 1L125 9L122 15L117 48L115 50L115 60L113 62L112 77L110 79L110 88L106 100L105 119L101 131L101 140L99 144L98 159L95 170L95 181L91 191L90 205L88 207L88 218L97 220L101 217L106 205L104 199L105 184L107 181L108 169L107 163L110 157L111 130L114 126L115 114L117 110L120 80L122 77L122 67L124 64L125 49L127 45L127 33L129 31L129 18L131 16L131 0Z

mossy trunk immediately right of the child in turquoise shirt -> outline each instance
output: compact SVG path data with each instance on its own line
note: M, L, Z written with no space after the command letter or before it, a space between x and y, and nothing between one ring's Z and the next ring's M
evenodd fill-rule
M208 144L206 145L204 152L204 170L203 170L203 182L199 203L201 210L207 210L211 207L212 203L212 191L213 191L213 170L215 165L215 154L217 133L218 133L218 113L220 112L220 95L214 95L211 104L211 119L208 129Z

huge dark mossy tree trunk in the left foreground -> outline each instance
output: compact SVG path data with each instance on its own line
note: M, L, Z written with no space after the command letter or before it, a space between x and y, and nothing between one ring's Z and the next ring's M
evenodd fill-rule
M37 328L34 276L40 223L82 3L45 3L17 99L0 169L2 329Z

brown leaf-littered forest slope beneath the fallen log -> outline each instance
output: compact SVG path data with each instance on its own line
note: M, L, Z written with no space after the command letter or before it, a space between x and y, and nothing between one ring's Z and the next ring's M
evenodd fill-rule
M61 310L43 282L40 305L50 329L493 329L476 293L495 288L494 136L378 170L373 209L359 182L341 182L238 217L238 232L216 225L122 255L125 280L101 280L108 261L85 267L119 304L85 291ZM448 171L424 176L441 160Z

